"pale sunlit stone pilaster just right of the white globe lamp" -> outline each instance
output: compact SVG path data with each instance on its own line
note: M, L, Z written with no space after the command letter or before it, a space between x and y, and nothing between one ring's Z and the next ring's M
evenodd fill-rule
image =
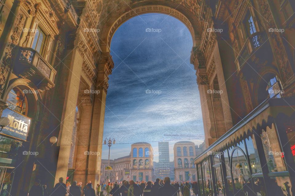
M68 172L69 154L71 149L71 139L73 134L73 123L77 106L79 84L81 77L81 68L85 44L81 37L77 35L74 42L74 49L70 50L64 63L69 68L69 76L62 82L66 83L64 107L61 117L61 128L58 137L57 146L59 146L59 155L57 160L57 170L55 174L55 183L58 178L66 179Z

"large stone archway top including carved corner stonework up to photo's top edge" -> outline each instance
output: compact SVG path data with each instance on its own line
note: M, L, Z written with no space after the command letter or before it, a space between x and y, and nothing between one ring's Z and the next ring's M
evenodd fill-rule
M183 22L191 32L193 46L199 46L202 25L198 12L200 5L194 1L130 1L130 2L103 2L103 11L100 16L98 36L103 52L109 52L112 36L116 30L128 19L147 13L161 13L173 16Z

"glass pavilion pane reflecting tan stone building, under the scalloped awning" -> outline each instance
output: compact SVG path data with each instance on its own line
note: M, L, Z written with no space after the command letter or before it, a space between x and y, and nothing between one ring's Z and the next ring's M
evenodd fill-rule
M274 125L262 130L261 139L269 172L286 171L281 146Z

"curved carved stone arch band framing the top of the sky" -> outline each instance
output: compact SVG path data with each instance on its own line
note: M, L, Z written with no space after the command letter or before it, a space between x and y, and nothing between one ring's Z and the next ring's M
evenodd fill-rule
M120 9L116 10L116 7L112 7L110 10L106 9L109 13L101 14L99 25L100 32L98 33L98 37L100 37L102 52L109 52L112 37L120 25L135 16L148 13L167 14L183 22L183 24L186 25L191 32L193 46L199 46L199 41L197 41L201 40L201 25L199 19L195 13L192 13L191 10L189 10L188 7L185 7L184 5L179 5L179 3L171 3L168 1L153 1L150 3L140 1L131 6L125 5L118 7ZM116 12L116 15L113 15L113 12Z

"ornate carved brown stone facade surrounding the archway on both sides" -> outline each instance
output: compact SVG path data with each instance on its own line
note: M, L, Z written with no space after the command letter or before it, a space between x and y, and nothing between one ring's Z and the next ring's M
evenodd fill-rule
M295 10L291 0L284 2ZM294 17L283 16L284 10L280 10L285 6L280 3L272 6L267 0L258 0L253 5L251 1L235 0L0 3L4 6L0 6L3 10L0 10L0 114L13 89L38 92L26 94L28 111L24 114L36 123L29 130L30 145L25 144L24 150L39 151L41 156L18 160L21 167L16 168L15 180L19 186L12 186L11 195L27 195L34 178L46 180L42 183L48 186L53 186L59 177L71 177L83 184L89 180L94 184L100 182L100 157L83 152L90 148L101 152L108 76L114 68L110 43L118 27L134 16L167 14L190 30L191 63L201 95L207 146L269 98L264 80L277 78L286 92L281 96L294 97ZM9 10L13 13L9 14ZM243 25L250 16L256 32L247 32ZM10 18L6 20L7 17ZM222 33L212 30L219 27ZM46 38L42 50L36 51L33 41L38 28ZM270 28L282 28L285 32L269 32ZM262 36L265 43L259 38ZM212 96L208 93L211 88L223 93ZM92 90L95 93L90 93ZM75 134L73 123L77 119ZM58 141L51 145L49 138L53 136ZM76 140L79 148L72 145ZM48 147L53 150L48 152ZM73 160L71 168L69 160ZM22 169L32 167L35 170Z

